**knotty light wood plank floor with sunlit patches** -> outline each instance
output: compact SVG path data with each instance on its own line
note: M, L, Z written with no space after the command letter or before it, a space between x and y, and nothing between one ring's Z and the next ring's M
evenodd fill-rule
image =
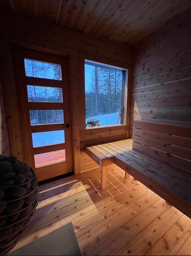
M72 221L83 255L191 255L191 219L116 165L101 190L99 169L39 187L17 249ZM14 250L13 249L13 250Z

